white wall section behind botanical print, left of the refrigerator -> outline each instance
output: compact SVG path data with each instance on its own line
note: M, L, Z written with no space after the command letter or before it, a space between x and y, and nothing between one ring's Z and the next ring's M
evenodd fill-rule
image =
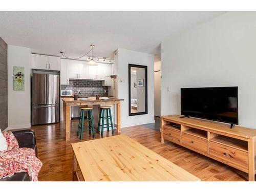
M29 48L8 45L8 129L31 126L30 53ZM25 67L25 91L13 91L13 66Z

